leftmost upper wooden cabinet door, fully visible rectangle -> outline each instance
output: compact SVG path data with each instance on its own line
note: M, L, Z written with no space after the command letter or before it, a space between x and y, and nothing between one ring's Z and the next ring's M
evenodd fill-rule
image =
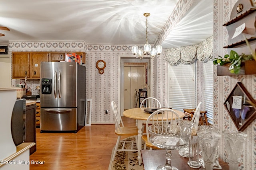
M30 78L29 53L12 52L12 78Z

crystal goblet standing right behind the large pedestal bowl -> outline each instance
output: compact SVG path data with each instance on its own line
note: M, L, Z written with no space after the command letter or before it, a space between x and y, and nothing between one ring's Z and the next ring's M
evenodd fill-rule
M192 127L194 125L193 121L188 121L188 120L182 120L179 122L180 126L181 126L181 131L183 131L183 133L188 135L191 134L192 131ZM179 155L185 158L189 157L189 149L188 149L188 144L186 145L186 147L182 148L179 150Z

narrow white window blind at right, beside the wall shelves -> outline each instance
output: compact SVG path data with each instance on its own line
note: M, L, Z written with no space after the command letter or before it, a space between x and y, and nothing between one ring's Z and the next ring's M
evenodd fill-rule
M203 105L209 123L213 123L213 62L208 61L203 65L204 96Z

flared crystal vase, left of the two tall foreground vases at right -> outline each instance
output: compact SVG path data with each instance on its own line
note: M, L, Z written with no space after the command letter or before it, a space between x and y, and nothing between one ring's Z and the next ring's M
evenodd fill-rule
M199 137L199 145L202 151L202 158L204 160L205 170L212 170L212 166L217 154L217 147L220 141L219 131L199 130L197 132Z

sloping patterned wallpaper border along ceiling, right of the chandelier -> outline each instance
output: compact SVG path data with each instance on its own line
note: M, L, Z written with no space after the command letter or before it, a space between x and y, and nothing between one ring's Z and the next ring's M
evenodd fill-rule
M162 44L164 39L169 35L170 31L176 26L176 24L183 18L190 6L195 0L180 0L175 6L171 16L166 21L161 33L158 35L154 45Z

